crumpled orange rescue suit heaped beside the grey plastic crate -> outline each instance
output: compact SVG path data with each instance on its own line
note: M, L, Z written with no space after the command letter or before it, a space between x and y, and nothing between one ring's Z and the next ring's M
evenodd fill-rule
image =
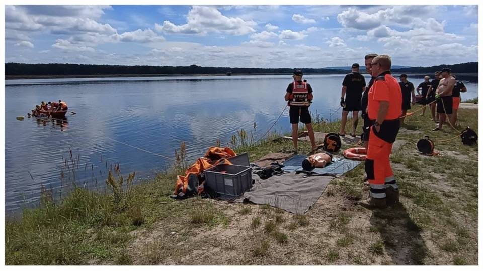
M189 190L188 186L190 180L192 183L199 184L200 175L203 171L219 164L231 164L226 158L233 156L236 156L236 153L228 147L210 147L203 157L198 158L193 165L186 169L184 176L177 176L176 187L173 194L178 195L180 192L186 194ZM199 184L197 189L197 194L202 193L204 190L203 185Z

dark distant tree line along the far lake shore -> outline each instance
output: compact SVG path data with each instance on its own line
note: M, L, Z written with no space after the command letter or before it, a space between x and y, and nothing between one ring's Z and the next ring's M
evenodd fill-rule
M478 62L468 62L455 65L439 65L432 67L411 67L394 69L393 72L433 73L449 67L457 73L478 72ZM327 68L300 68L305 74L335 74L347 73L347 70ZM25 64L6 63L6 76L29 75L143 75L143 74L291 74L294 68L230 68L191 66L121 66L121 65L87 65L87 64Z

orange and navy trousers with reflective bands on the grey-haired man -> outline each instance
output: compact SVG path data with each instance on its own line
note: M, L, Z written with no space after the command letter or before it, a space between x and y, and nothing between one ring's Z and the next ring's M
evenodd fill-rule
M394 173L389 163L389 155L392 150L392 143L379 138L370 128L369 143L365 170L369 180L370 196L372 198L385 198L386 188L392 186L398 189Z

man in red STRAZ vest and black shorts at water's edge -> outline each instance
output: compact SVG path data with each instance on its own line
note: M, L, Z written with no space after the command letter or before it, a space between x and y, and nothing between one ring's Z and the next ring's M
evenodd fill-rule
M313 134L312 118L308 107L310 101L313 99L312 87L309 83L302 81L303 73L301 70L295 70L293 73L293 82L287 87L285 94L285 101L288 101L290 106L290 123L292 124L292 141L295 153L297 153L297 141L298 141L298 121L305 123L308 130L308 137L312 144L312 150L317 149L315 145L315 136Z

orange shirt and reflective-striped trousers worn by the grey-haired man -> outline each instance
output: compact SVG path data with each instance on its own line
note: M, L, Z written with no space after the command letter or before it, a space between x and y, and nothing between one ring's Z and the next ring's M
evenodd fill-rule
M370 196L385 198L388 186L397 189L394 173L389 163L389 155L391 154L392 143L394 143L399 132L399 116L401 115L403 97L399 83L389 71L376 77L369 90L368 97L367 113L372 124L377 119L380 102L389 102L389 109L384 121L380 123L379 132L375 130L374 125L371 126L365 163Z

